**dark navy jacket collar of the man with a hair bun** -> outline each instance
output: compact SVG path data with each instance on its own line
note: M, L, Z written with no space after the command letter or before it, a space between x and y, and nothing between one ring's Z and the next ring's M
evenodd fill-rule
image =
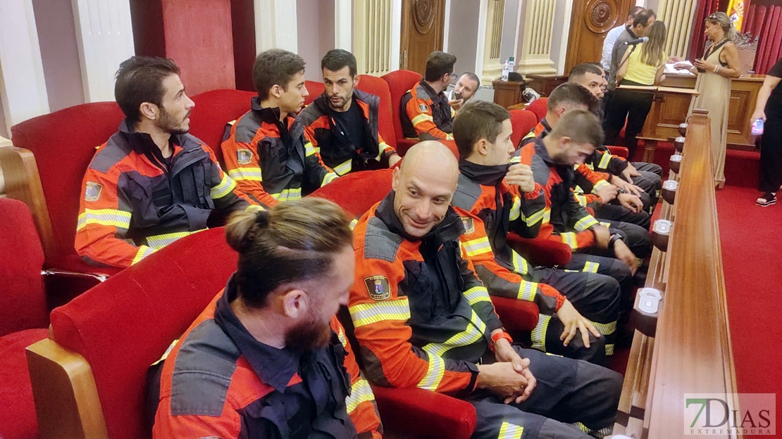
M236 294L234 277L231 276L222 297L217 300L214 321L231 337L260 380L274 387L274 390L283 392L292 377L299 372L300 354L290 348L278 349L263 344L249 334L231 310L231 302L235 300Z

